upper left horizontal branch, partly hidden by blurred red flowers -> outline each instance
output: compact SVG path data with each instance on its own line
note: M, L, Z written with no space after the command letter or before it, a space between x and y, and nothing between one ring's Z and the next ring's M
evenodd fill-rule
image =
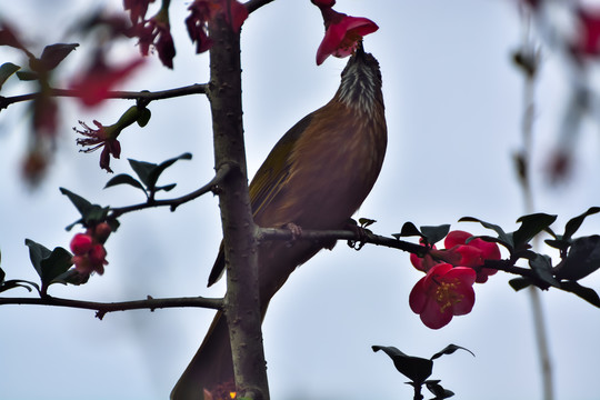
M144 100L150 102L152 100L162 100L171 99L176 97L189 96L189 94L206 94L207 92L206 83L194 83L187 87L159 90L159 91L109 91L106 94L107 99L124 99L124 100ZM20 94L12 97L2 97L0 96L0 110L6 109L12 103L21 101L30 101L40 97L40 92ZM50 89L50 96L52 97L68 97L68 98L80 98L82 97L81 90L70 90L70 89Z

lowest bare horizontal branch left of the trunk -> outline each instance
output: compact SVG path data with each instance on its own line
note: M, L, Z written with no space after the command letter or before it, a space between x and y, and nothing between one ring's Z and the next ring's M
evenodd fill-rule
M150 310L166 308L196 307L219 310L222 307L222 299L188 297L188 298L166 298L153 299L150 296L146 300L121 301L121 302L96 302L83 300L71 300L46 296L43 298L0 298L2 304L34 304L68 307L84 310L96 310L96 317L102 319L106 313L127 310Z

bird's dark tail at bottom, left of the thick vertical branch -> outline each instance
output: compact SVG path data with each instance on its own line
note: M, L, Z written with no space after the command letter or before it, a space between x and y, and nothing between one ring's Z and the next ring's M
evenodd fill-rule
M192 361L171 391L172 400L202 400L204 389L213 399L224 398L233 391L231 343L224 314L219 311ZM229 397L227 397L229 398Z

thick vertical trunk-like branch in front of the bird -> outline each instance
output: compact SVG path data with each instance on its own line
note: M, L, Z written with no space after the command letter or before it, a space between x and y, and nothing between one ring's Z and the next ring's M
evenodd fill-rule
M254 221L248 194L241 106L240 34L221 17L210 27L209 99L212 111L214 162L231 172L219 184L227 260L227 317L238 393L269 399L262 348Z

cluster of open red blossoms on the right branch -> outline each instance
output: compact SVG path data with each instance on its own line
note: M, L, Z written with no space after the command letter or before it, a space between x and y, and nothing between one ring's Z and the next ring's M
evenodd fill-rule
M473 283L483 283L497 272L483 267L486 260L500 259L498 244L460 230L448 233L444 246L442 250L431 247L422 258L410 257L414 268L426 276L410 292L409 304L431 329L447 326L453 316L471 312Z

